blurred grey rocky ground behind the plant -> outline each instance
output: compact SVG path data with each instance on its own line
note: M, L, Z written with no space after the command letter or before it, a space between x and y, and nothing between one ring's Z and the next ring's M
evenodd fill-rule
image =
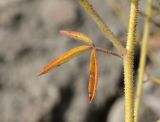
M111 30L126 39L130 0L90 2ZM141 10L145 10L145 2L141 0ZM160 7L158 2L154 5ZM140 34L143 19L139 17ZM98 53L99 85L92 104L88 103L87 91L90 52L47 75L36 76L54 57L81 45L60 35L61 29L86 33L97 46L116 51L80 7L79 0L0 0L0 122L123 122L121 59ZM152 24L152 33L158 29ZM154 47L160 45L160 38L154 40L148 65L152 75L158 77L160 67L150 59L160 63L160 48ZM135 58L136 75L138 47ZM160 119L159 103L160 86L146 82L140 122Z

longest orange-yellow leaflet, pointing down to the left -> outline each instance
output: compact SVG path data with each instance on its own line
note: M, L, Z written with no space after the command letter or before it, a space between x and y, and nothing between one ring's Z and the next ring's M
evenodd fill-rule
M88 51L89 49L91 49L90 46L79 46L76 48L73 48L71 50L69 50L68 52L64 53L63 55L55 58L53 61L51 61L47 66L45 66L39 73L38 76L48 73L50 70L52 70L53 68L67 62L68 60L70 60L71 58L80 55L83 52Z

